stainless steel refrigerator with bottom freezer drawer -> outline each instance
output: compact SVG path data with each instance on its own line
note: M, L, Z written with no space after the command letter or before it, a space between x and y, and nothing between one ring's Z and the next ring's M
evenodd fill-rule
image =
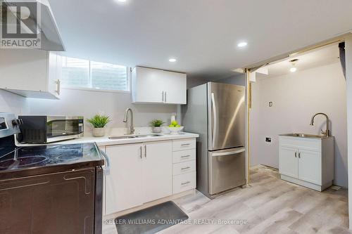
M197 190L213 198L246 184L244 86L209 82L187 90L182 125L197 139Z

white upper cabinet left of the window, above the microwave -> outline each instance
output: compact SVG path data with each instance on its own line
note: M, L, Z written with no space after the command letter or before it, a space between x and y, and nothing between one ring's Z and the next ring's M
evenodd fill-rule
M0 89L27 98L58 99L61 56L36 49L3 49Z

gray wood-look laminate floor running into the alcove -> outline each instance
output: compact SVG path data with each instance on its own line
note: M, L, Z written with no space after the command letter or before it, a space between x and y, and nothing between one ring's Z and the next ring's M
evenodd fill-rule
M201 193L174 201L189 215L169 233L352 233L348 230L347 190L320 193L278 178L268 167L251 169L251 186L214 200ZM209 223L216 221L216 223ZM104 234L117 233L105 225Z

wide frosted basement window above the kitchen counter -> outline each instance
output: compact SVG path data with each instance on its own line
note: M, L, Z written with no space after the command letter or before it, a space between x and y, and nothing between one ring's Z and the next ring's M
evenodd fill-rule
M128 67L62 57L61 84L68 89L130 91Z

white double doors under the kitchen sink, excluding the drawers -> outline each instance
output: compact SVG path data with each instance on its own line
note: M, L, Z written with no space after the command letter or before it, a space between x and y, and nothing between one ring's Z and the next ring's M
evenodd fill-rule
M108 145L105 214L172 195L172 141Z

